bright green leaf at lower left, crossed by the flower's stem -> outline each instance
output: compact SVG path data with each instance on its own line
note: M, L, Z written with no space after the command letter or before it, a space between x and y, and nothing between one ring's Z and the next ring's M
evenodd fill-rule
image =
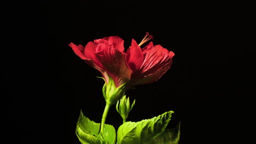
M104 133L103 139L99 134L100 131L100 123L95 123L91 121L89 118L83 115L83 112L80 112L80 117L77 122L77 129L75 133L79 141L82 144L103 144L115 143L115 129L112 125L105 124L104 125Z

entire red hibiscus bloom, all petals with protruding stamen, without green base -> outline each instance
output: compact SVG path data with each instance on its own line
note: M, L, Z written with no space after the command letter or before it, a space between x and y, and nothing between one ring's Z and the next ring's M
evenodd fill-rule
M174 56L172 51L169 52L161 45L153 45L152 42L141 49L140 46L152 38L147 33L139 44L132 39L126 53L124 40L117 36L96 39L86 46L73 43L69 46L86 63L99 70L106 83L111 77L115 87L124 83L134 86L157 81L171 68Z

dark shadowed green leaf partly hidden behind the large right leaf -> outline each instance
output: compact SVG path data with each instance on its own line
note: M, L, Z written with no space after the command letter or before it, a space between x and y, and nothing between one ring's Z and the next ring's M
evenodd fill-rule
M180 127L181 123L179 123L176 128L166 129L164 132L162 132L161 135L159 135L155 139L149 140L142 144L178 144L180 136Z

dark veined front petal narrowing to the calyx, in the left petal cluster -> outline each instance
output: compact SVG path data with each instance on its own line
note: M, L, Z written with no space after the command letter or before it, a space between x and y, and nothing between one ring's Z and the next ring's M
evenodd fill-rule
M132 70L129 68L126 62L126 54L120 52L113 47L101 45L102 51L96 54L99 61L104 66L107 74L112 77L115 82L115 86L119 87L123 83L130 80Z

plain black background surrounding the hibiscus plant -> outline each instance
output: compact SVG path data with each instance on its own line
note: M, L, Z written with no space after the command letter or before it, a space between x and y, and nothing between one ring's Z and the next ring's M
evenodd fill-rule
M8 143L79 143L80 110L101 122L104 82L68 44L86 45L111 35L129 47L132 38L139 43L149 32L154 44L176 54L159 81L127 92L136 99L128 121L172 110L168 128L181 121L179 143L238 141L244 121L251 121L248 90L253 85L247 83L252 81L249 54L254 54L255 34L249 4L37 1L12 10L6 49L11 55L4 61ZM113 106L106 123L117 130L121 122Z

